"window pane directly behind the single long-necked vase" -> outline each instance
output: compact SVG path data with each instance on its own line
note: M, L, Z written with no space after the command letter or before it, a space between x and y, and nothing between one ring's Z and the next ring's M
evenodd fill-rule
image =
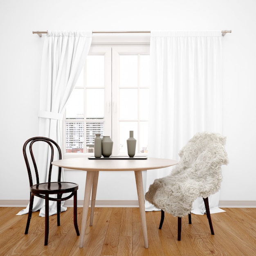
M119 153L127 153L126 140L130 137L130 131L133 131L133 137L138 138L138 124L137 122L120 122L119 123ZM138 143L136 142L136 153Z

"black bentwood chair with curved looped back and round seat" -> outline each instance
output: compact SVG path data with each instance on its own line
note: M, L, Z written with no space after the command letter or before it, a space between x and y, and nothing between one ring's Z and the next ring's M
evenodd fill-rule
M32 146L35 142L43 141L46 145L49 146L49 157L46 159L49 166L49 175L48 182L40 183L38 167L36 165L36 160L32 150ZM30 201L29 201L29 213L27 217L27 226L25 234L28 233L29 223L32 215L34 196L45 199L45 245L48 244L49 236L49 200L57 202L57 225L60 226L60 212L61 212L61 201L65 201L72 196L74 196L74 226L76 229L76 234L79 236L79 229L77 226L77 189L78 184L72 182L61 182L61 167L58 167L58 182L51 182L52 176L52 161L58 160L54 159L57 156L58 159L61 159L61 148L58 144L52 139L45 137L33 137L28 139L23 146L23 155L25 158L27 172L29 175L29 185L30 185ZM28 157L29 156L29 157ZM36 177L36 184L33 183L31 168L34 169ZM64 193L70 193L68 196L62 198ZM54 197L55 196L55 197Z

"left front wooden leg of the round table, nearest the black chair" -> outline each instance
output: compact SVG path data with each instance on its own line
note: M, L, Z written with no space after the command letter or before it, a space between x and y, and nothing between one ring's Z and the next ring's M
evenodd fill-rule
M86 220L87 220L87 216L88 216L90 196L91 196L91 191L92 191L93 176L94 176L93 171L88 171L86 174L85 192L84 192L84 200L83 200L82 226L81 226L81 234L80 234L80 240L79 240L79 248L83 247L83 242L84 242Z

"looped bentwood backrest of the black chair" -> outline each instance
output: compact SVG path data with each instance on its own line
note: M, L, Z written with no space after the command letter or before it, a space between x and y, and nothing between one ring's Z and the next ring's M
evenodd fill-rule
M32 146L35 142L41 141L45 143L45 145L48 145L48 152L47 152L47 159L45 161L47 162L47 168L49 168L48 171L48 180L43 182L51 182L52 177L52 161L62 159L61 155L61 148L58 146L58 144L49 138L46 137L33 137L28 139L24 145L23 145L23 155L27 166L27 172L29 175L29 184L32 186L33 184L39 184L39 173L38 173L38 166L37 166L37 159L35 159L34 154L34 148ZM43 155L42 155L43 157ZM43 159L44 161L44 159ZM34 169L35 175L32 175L31 169ZM36 177L36 183L33 183L33 176ZM46 177L46 176L45 176ZM58 182L61 182L61 167L58 167Z

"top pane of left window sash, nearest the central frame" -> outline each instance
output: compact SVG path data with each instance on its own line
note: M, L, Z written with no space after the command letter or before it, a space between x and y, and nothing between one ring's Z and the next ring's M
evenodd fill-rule
M88 55L86 58L86 86L104 86L104 55Z

